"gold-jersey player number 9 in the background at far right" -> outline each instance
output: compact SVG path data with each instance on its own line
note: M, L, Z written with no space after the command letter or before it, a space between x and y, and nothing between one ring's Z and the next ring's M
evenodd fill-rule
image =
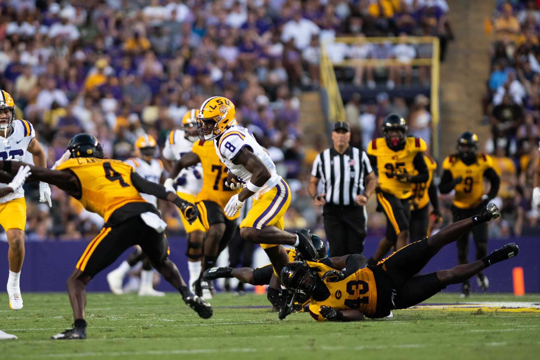
M478 154L478 137L476 134L465 131L457 140L457 154L444 159L439 190L447 194L455 189L452 213L454 221L468 218L476 214L490 199L497 196L501 180L493 168L493 160L489 155ZM489 193L484 195L484 178L487 178L491 187ZM488 224L484 223L472 229L476 244L476 259L485 256L488 250ZM457 263L466 264L469 254L469 233L465 233L457 240ZM478 285L482 289L489 286L488 279L483 273L478 274ZM462 296L470 294L469 280L463 282Z

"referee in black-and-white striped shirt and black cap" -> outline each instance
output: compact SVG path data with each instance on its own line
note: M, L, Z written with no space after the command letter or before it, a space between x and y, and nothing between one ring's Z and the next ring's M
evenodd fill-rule
M375 173L365 152L349 146L349 123L335 123L334 147L315 158L308 191L315 205L324 205L325 232L330 257L361 254L366 238L365 205L376 185ZM322 180L323 193L318 194Z

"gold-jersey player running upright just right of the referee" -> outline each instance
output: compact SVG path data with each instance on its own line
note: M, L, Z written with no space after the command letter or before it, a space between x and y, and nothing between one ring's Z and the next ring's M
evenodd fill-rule
M426 142L420 138L407 137L405 119L397 114L389 114L384 118L382 134L382 138L369 142L366 150L372 166L379 173L377 210L384 212L387 218L386 237L379 244L375 261L381 260L388 252L388 242L396 250L407 245L409 198L413 195L411 184L426 182L429 178L422 155L426 151ZM418 174L413 176L414 171Z

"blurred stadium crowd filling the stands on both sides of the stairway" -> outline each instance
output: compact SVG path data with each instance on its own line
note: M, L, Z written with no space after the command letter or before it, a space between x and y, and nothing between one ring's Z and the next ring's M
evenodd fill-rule
M484 100L494 154L502 176L502 220L491 236L519 235L536 224L529 211L532 165L537 161L540 119L540 11L536 1L499 4L498 41ZM319 87L320 44L339 35L438 36L441 58L452 38L445 0L4 0L0 1L0 88L16 101L16 118L29 120L49 167L76 133L95 134L106 157L126 159L134 140L149 133L163 148L190 108L221 94L237 106L239 124L268 148L294 192L287 228L323 232L321 210L307 193L309 169L326 139L306 144L299 126L302 90ZM343 58L396 58L403 69L385 74L388 89L410 85L407 62L431 57L422 45L336 45ZM429 71L419 69L426 82ZM373 69L354 69L354 84L374 88ZM406 89L406 88L405 88ZM429 99L388 93L346 104L352 143L365 148L380 135L390 112L409 120L409 132L429 144ZM531 152L535 155L531 157ZM159 156L159 154L157 154ZM446 154L441 154L446 156ZM31 156L27 154L27 161ZM103 223L53 188L53 207L39 203L35 184L25 185L27 241L78 240ZM451 196L442 196L450 205ZM446 222L451 221L444 210ZM177 210L164 214L172 234L182 233ZM370 213L370 234L382 234L383 215ZM5 233L3 235L5 237Z

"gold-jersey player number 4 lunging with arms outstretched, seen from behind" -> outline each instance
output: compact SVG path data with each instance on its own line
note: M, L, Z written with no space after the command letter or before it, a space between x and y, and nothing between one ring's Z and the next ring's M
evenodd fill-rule
M114 262L127 248L139 245L149 257L152 266L179 290L187 305L199 316L212 316L212 307L191 293L176 265L168 259L168 242L163 232L166 224L158 210L146 202L140 193L154 195L173 202L188 219L197 217L193 204L176 194L167 192L163 185L144 179L123 161L103 159L99 141L90 134L73 137L68 145L71 158L56 170L31 166L28 181L45 181L56 185L73 196L89 210L99 214L105 225L88 244L68 279L68 294L75 323L72 329L53 336L53 339L86 338L86 284L99 271ZM21 162L0 161L0 181L10 180ZM8 173L8 174L6 174Z

